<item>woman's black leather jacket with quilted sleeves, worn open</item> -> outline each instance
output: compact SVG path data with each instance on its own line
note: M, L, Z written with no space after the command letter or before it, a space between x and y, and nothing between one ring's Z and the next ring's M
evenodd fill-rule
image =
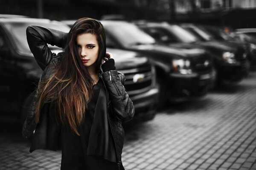
M61 61L61 57L63 56L62 53L58 55L52 53L47 44L56 45L58 47L64 48L67 33L53 30L50 28L44 28L41 26L29 26L26 30L26 34L29 48L34 54L38 65L43 69L41 79L47 79L53 73L55 66L58 64L58 62ZM134 116L135 109L133 102L129 98L123 86L125 82L124 74L121 74L116 70L111 70L104 73L99 72L99 77L103 80L107 91L106 97L108 99L108 105L105 106L105 109L108 113L108 123L111 127L111 132L116 147L117 165L120 166L122 164L121 154L124 144L124 130L122 127L122 122L131 120ZM22 128L22 134L25 138L28 138L36 129L37 125L35 123L35 107L37 105L37 102L38 97L35 93L35 97L32 100L31 108L29 109L29 113ZM42 114L44 114L44 112ZM42 141L46 141L44 139L44 134L45 132L47 132L46 127L40 126L39 130L42 133L40 133L41 135L35 136L38 139L33 140L35 142L32 142L32 151L35 149L56 150L56 147L52 147L52 145L49 146L47 142L43 142L42 144ZM52 136L52 138L54 139L54 135Z

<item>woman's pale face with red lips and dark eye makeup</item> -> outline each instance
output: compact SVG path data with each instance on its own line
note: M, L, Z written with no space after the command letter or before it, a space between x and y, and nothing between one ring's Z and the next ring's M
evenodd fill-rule
M78 45L78 53L84 66L90 68L95 67L94 63L99 55L99 43L94 34L84 33L76 37Z

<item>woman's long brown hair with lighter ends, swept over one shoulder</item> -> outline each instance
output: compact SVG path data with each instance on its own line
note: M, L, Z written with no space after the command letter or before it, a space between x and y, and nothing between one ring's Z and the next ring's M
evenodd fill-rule
M77 127L84 120L93 87L93 79L78 54L76 38L84 33L94 34L97 37L99 56L96 60L96 71L99 70L101 59L106 53L104 28L98 20L81 18L74 23L67 34L67 45L55 72L46 80L41 79L38 84L38 105L35 113L38 123L44 103L55 103L61 122L68 124L77 135L79 135Z

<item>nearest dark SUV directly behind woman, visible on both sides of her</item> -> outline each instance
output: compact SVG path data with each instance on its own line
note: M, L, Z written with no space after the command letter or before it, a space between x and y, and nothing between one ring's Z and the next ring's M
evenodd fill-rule
M23 122L42 70L26 41L29 25L45 26L68 32L70 27L58 21L33 18L0 18L0 119ZM56 54L62 49L49 45ZM158 88L154 67L136 52L108 49L116 58L116 69L125 73L125 88L136 106L136 119L153 119ZM118 57L121 56L122 57Z

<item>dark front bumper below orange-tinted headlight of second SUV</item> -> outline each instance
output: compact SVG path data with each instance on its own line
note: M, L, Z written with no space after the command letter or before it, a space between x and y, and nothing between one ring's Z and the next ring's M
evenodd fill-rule
M167 87L170 101L182 101L207 94L214 86L215 72L201 74L170 74L171 81Z

